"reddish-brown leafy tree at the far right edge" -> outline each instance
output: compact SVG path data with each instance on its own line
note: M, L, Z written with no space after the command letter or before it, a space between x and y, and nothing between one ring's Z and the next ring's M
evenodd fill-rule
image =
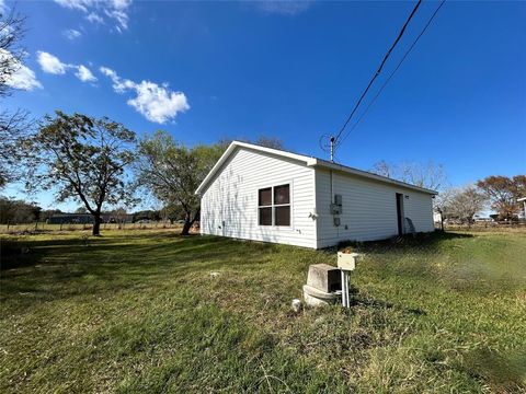
M513 219L521 211L518 198L526 196L526 175L488 176L477 183L490 198L501 219Z

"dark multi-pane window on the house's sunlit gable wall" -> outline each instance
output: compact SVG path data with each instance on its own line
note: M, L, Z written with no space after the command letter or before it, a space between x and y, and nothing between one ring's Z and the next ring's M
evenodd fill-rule
M260 225L290 225L290 186L260 189L258 207Z

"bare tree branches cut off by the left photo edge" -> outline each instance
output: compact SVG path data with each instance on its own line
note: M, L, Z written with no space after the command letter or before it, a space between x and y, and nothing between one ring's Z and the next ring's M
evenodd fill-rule
M0 9L0 12L2 10ZM13 93L10 83L23 67L24 18L16 11L0 13L0 102ZM10 112L0 108L0 188L20 175L20 160L23 155L21 139L31 129L28 113L23 109Z

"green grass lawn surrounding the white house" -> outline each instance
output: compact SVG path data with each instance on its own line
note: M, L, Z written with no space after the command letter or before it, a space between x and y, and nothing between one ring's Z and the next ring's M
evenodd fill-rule
M103 235L0 239L2 393L526 390L525 233L356 246L353 306L299 314L334 251Z

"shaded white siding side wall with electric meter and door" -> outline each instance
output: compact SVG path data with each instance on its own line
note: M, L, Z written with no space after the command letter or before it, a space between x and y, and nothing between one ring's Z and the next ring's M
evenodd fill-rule
M341 241L382 240L398 234L396 194L401 193L404 215L418 232L433 231L432 197L428 194L333 172L331 195L330 172L316 170L318 244L327 247ZM330 204L334 194L342 195L341 224L333 224ZM346 229L345 229L346 227Z

